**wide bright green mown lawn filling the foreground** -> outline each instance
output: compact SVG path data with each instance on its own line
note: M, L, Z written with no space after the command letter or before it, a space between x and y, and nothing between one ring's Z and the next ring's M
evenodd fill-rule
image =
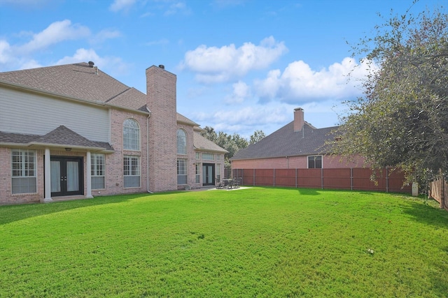
M447 297L448 212L250 188L0 207L0 297Z

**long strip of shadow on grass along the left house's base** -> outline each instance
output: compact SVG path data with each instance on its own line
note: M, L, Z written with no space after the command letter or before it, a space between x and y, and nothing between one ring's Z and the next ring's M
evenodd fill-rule
M157 195L169 195L181 193L181 191L170 191L157 193ZM60 202L50 202L47 204L17 204L0 206L0 225L21 221L26 218L54 214L57 212L73 210L78 208L99 206L104 204L116 204L153 195L151 193L135 193L130 195L106 195L93 199L67 200Z

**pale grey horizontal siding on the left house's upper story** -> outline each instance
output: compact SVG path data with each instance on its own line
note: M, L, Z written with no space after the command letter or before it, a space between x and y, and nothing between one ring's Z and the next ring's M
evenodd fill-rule
M0 131L45 135L61 125L89 140L110 142L104 107L0 88Z

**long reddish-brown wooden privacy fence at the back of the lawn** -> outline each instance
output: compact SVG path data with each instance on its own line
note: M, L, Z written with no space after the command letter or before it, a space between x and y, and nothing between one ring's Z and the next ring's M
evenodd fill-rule
M233 178L241 185L295 188L347 189L352 191L386 191L412 193L403 186L404 174L386 169L376 172L377 183L370 179L370 168L335 169L233 169Z

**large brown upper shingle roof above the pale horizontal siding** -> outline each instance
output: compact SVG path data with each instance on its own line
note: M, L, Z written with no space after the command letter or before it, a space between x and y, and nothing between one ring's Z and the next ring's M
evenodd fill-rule
M65 64L0 73L0 81L40 91L138 110L146 95L87 63Z

